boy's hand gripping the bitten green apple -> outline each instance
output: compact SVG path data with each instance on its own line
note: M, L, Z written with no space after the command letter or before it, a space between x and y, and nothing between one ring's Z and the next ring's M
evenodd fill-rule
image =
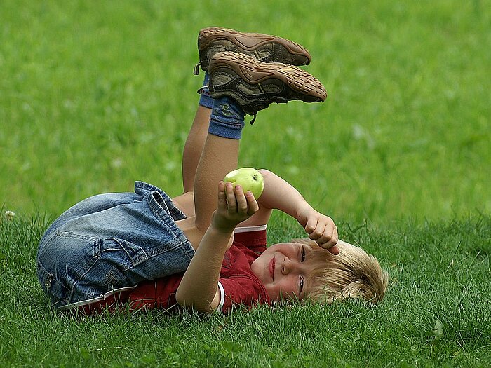
M231 232L259 210L253 193L244 193L240 185L231 182L218 184L218 205L211 224L217 231Z

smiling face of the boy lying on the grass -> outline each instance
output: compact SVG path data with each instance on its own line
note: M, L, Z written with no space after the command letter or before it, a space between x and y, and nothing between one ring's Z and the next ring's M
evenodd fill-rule
M271 301L300 300L307 296L311 247L301 243L279 243L268 247L250 269L260 279Z

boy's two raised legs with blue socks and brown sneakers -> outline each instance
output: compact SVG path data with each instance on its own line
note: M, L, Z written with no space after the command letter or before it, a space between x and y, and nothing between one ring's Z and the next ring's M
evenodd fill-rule
M210 75L206 73L202 89L206 93L201 96L201 107L196 112L184 146L184 194L175 198L175 202L179 206L181 201L189 203L190 198L193 198L194 212L189 210L184 213L189 217L195 214L195 218L187 222L191 223L192 228L206 231L217 207L218 182L237 166L244 113L255 115L271 102L323 101L325 90L320 82L311 79L302 69L278 64L309 64L308 51L292 41L212 27L201 30L198 45L199 65ZM269 67L255 57L275 65ZM197 71L199 70L196 69ZM208 76L213 79L213 83L209 83L209 90L205 88L208 86ZM208 95L205 98L208 103L201 103L203 95ZM210 110L206 108L212 104L210 114ZM208 118L207 134L204 128L208 124Z

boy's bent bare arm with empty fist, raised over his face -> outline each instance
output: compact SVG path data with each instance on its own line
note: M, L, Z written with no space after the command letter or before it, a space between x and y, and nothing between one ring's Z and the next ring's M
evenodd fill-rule
M307 200L290 183L278 175L265 169L259 170L264 176L264 191L258 202L260 212L251 217L251 221L261 215L261 211L277 209L297 219L299 224L321 247L330 250L332 254L339 254L336 247L338 240L337 227L332 219L321 214L307 203Z

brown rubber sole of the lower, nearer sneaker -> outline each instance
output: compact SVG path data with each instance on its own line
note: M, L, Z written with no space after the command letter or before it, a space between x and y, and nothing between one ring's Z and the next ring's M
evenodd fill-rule
M303 69L279 62L260 62L254 57L239 53L217 53L210 60L210 72L218 68L228 68L249 84L257 85L267 79L279 79L299 95L297 100L304 102L324 102L328 93L316 77Z

